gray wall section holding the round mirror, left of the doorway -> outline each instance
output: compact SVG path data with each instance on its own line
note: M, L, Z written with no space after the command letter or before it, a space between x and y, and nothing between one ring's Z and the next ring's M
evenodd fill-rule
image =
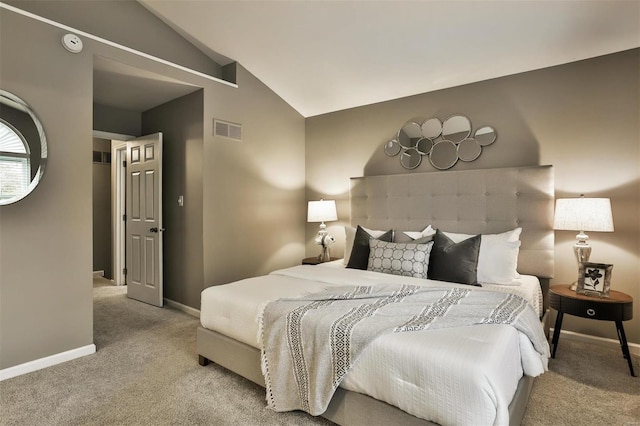
M31 105L49 154L35 191L0 207L0 368L93 342L93 57L65 55L61 36L0 13L0 85Z

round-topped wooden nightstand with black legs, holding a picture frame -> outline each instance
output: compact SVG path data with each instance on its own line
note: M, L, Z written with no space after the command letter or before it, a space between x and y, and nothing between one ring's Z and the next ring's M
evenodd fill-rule
M549 305L558 311L556 325L553 330L553 339L551 340L553 348L551 358L556 357L564 314L603 321L615 321L622 355L629 363L631 375L635 377L627 336L624 334L624 328L622 327L622 321L628 321L633 318L633 298L621 291L614 290L609 292L608 298L585 296L584 294L576 293L569 287L568 285L554 285L549 288Z

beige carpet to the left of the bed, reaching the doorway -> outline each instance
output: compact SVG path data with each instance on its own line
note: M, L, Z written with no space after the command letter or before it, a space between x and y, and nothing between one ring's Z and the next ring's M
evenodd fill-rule
M198 320L94 285L97 352L0 383L2 425L327 425L275 413L264 390L198 365Z

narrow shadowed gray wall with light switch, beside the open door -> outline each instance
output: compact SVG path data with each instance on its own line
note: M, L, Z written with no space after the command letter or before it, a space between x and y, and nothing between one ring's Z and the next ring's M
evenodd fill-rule
M142 114L144 134L162 132L164 297L200 309L203 91ZM184 207L177 199L184 196Z

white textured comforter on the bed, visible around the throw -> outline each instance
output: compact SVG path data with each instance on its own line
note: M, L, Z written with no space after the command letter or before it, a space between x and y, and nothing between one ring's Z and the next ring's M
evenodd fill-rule
M538 307L537 280L522 281L521 286L497 290L529 292L528 300ZM259 318L267 302L331 286L376 283L459 286L354 269L296 266L205 289L200 318L203 327L259 348ZM526 290L536 287L537 291ZM546 362L529 339L505 325L391 333L368 346L341 387L442 425L507 425L518 381L523 373L542 374Z

